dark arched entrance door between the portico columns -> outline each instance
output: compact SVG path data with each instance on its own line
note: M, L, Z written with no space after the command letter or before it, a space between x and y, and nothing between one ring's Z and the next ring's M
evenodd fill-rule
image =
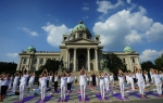
M80 54L78 55L78 70L80 70L83 66L86 69L86 56Z

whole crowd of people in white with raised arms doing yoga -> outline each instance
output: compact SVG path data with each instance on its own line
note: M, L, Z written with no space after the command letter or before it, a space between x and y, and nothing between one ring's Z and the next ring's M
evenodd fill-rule
M62 72L59 74L58 72L52 73L48 72L46 68L39 75L39 90L41 94L41 101L45 101L46 90L47 88L54 88L54 93L58 92L59 86L61 90L61 102L65 102L66 92L71 93L72 86L79 85L80 88L80 96L82 101L85 101L86 96L86 88L92 87L93 92L97 92L97 86L100 87L100 94L102 100L104 100L105 92L112 92L114 87L114 74L113 73L103 73L100 72L96 74L95 72L91 75L87 75L86 69L83 67L79 72L79 76L74 76L72 73ZM141 69L136 69L135 72L122 72L118 69L117 73L118 86L121 90L122 99L125 100L124 87L125 82L130 86L130 89L135 91L137 83L139 93L142 99L145 99L145 86L150 86L154 83L156 87L156 91L160 98L162 95L162 82L163 82L163 73L158 72L156 69L151 68L150 72L142 72ZM22 74L16 72L13 76L10 74L1 74L0 75L0 102L3 101L7 91L12 90L12 92L20 92L20 103L23 102L24 93L26 88L30 91L34 88L34 81L36 79L35 73L28 73L27 70L23 70ZM77 83L78 82L78 83ZM59 85L60 83L60 85ZM18 89L20 88L20 89Z

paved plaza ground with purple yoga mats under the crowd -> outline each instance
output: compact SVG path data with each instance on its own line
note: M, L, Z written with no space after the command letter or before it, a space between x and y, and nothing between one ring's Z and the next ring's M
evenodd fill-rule
M121 100L120 88L115 85L112 91L105 91L105 100L102 101L100 96L99 87L97 87L97 92L92 91L92 88L86 88L86 102L89 103L101 103L101 102L109 102L109 103L163 103L163 98L159 98L156 91L154 90L155 87L151 85L147 87L145 90L146 99L141 99L138 92L138 89L131 91L128 86L125 86L125 100ZM24 102L23 103L40 103L40 91L37 94L33 94L29 92L25 93ZM60 102L60 89L58 93L52 93L52 90L48 90L45 99L45 103L57 103ZM9 93L10 94L10 91ZM7 95L3 103L18 103L18 95ZM80 101L79 94L79 87L75 86L72 88L70 94L66 94L66 102L68 103L77 103Z

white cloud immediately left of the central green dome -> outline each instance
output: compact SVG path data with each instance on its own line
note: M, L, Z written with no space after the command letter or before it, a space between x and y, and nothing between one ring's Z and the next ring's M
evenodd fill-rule
M63 34L68 34L72 31L72 28L67 28L64 24L62 24L61 26L55 26L53 24L48 23L41 28L48 34L48 43L50 43L53 47L59 47L61 44Z

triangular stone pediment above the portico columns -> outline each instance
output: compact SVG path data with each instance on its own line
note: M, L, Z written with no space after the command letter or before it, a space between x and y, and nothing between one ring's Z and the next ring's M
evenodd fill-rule
M82 39L70 40L66 43L97 43L97 42L93 42L89 39L82 38Z

